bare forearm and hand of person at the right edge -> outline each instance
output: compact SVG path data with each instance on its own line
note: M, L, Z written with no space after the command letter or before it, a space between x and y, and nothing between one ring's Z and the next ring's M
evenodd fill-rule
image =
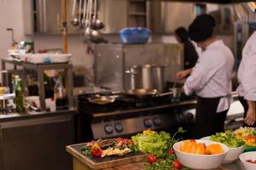
M247 105L248 111L244 122L249 126L253 126L253 124L256 122L256 102L247 100Z

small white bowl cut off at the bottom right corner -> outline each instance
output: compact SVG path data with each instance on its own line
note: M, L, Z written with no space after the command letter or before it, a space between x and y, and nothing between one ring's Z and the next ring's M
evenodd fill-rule
M256 151L248 151L245 153L242 153L239 156L239 159L241 161L242 166L246 169L246 170L255 170L256 169L256 163L250 163L247 162L247 160L256 160Z

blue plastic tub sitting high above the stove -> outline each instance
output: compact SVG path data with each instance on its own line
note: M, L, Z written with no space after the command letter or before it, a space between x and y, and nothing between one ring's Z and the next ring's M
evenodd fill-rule
M128 44L147 43L150 31L142 27L129 27L119 31L119 37L122 39L122 42Z

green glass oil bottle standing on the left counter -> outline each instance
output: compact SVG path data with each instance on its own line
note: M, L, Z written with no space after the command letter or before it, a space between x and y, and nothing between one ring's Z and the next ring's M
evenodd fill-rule
M23 82L20 78L15 80L15 105L18 113L25 114L25 96Z

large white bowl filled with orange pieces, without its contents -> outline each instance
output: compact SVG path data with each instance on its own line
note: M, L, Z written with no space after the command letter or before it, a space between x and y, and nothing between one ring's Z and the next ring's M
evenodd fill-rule
M226 146L225 144L211 141L211 140L195 140L195 141L206 144L206 145L220 144L222 149L224 150L224 153L216 154L216 155L189 154L180 150L180 147L183 143L183 141L180 141L173 144L173 149L175 151L178 161L180 161L181 164L183 164L183 166L189 167L192 169L215 169L223 163L224 158L229 151L228 146Z

